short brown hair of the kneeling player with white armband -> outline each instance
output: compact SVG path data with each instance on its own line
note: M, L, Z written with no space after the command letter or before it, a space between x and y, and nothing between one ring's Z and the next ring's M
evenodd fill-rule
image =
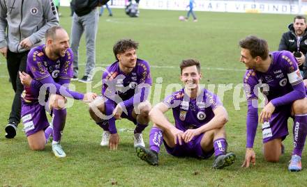
M267 41L257 38L255 35L249 35L245 39L240 40L239 45L243 49L248 49L253 58L260 56L264 60L269 56Z

